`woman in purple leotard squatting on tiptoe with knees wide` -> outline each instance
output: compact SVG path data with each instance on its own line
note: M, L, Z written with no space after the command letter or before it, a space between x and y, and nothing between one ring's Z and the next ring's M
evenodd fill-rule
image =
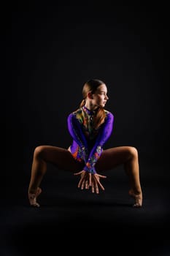
M60 170L70 170L80 175L78 187L91 189L98 194L104 190L98 174L117 165L124 165L130 183L128 194L134 197L134 207L142 206L142 188L139 180L139 160L136 148L119 146L104 149L104 143L112 133L114 116L104 107L109 99L106 84L98 79L88 80L82 89L80 108L68 116L68 129L72 145L68 149L55 146L37 146L31 168L28 200L31 206L39 207L39 187L50 162Z

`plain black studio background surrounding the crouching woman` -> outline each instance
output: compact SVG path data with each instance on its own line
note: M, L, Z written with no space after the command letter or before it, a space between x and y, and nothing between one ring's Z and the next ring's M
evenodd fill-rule
M17 236L19 241L30 233L33 238L43 232L47 236L54 232L55 226L61 240L69 241L73 230L81 233L80 227L84 230L95 226L101 241L104 241L103 229L105 236L111 232L112 239L117 238L115 244L119 241L125 244L131 234L140 249L145 244L150 246L150 252L147 254L145 250L144 255L168 255L169 237L165 236L169 225L170 176L167 4L163 1L161 5L24 1L4 7L4 14L1 40L5 57L2 68L5 95L1 97L5 105L6 134L5 171L1 172L3 254L19 254L18 240L14 239ZM139 214L134 209L132 213L123 208L125 200L128 201L125 197L128 184L121 167L115 173L107 172L109 178L104 185L108 190L96 198L77 191L77 179L72 174L49 166L42 183L46 193L42 202L50 206L47 204L46 210L35 213L27 199L34 148L42 144L69 146L72 140L66 118L79 106L82 86L90 78L99 78L107 84L106 108L115 116L114 130L106 147L131 145L139 150L144 209ZM114 195L114 202L118 203L113 203ZM107 205L107 211L98 210L100 203ZM113 208L108 210L108 206ZM91 222L96 214L97 222ZM39 224L42 222L44 227ZM154 246L150 236L156 241ZM20 255L28 251L29 236L24 238ZM141 243L144 238L145 244ZM81 244L75 235L77 239ZM134 246L138 249L132 240L129 239L126 252Z

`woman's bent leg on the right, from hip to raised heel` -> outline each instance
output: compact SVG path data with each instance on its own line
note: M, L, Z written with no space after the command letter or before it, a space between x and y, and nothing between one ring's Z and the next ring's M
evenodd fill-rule
M136 148L131 146L119 146L104 150L96 163L96 170L110 170L122 164L129 178L129 195L135 199L134 206L142 206L142 188L139 178L138 151Z

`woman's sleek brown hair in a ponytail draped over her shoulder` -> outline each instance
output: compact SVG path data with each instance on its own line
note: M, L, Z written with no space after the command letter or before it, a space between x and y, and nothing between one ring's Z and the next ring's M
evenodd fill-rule
M101 84L105 84L102 80L99 79L90 79L88 80L83 88L82 88L82 102L80 103L80 108L85 105L85 99L88 96L88 93L91 92L94 94L96 90L98 89L98 86L101 86ZM94 116L94 123L93 126L95 129L98 129L98 127L104 123L104 119L106 117L104 108L98 108L96 111L96 115Z

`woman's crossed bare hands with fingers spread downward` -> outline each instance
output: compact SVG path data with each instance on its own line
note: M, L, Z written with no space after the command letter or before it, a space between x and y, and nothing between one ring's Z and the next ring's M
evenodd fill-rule
M80 187L81 189L89 189L89 187L91 187L92 193L96 192L96 194L99 193L98 187L101 188L102 190L104 190L104 187L102 186L99 179L107 178L107 176L102 176L98 173L91 174L85 170L81 170L78 173L74 173L74 175L81 176L79 184L78 184L78 187Z

